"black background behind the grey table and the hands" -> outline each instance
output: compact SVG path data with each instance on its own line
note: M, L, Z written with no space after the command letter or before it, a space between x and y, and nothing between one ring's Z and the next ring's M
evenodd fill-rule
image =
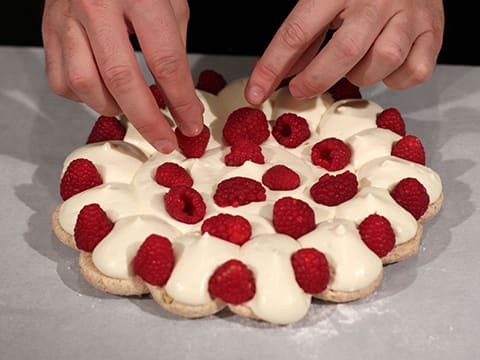
M190 1L189 52L260 55L296 1ZM461 5L460 5L461 4ZM474 3L444 1L446 26L441 64L480 65ZM469 9L470 7L470 9ZM42 46L43 0L7 1L2 4L0 45ZM469 42L471 43L469 45ZM467 46L466 46L467 45Z

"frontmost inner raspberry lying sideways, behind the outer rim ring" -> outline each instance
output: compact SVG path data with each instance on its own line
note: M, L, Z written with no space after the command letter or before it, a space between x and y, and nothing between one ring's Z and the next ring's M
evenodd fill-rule
M218 214L206 219L201 231L202 234L209 233L231 243L243 245L252 235L252 226L243 216Z

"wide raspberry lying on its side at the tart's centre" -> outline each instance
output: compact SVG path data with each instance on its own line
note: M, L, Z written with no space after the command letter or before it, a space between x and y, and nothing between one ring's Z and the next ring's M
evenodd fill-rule
M251 202L265 201L265 188L256 180L234 176L217 185L213 200L220 207L238 207Z

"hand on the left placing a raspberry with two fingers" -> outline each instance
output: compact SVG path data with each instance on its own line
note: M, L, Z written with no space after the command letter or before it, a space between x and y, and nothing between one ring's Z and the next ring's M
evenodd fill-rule
M125 114L157 150L176 138L137 62L135 33L146 64L181 131L197 135L203 105L195 95L185 38L186 0L46 0L45 63L53 91L102 115Z

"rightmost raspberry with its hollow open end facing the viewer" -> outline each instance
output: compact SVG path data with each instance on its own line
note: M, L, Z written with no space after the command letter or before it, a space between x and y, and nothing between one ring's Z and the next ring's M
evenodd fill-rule
M351 156L350 147L337 138L319 141L312 147L311 153L312 163L328 171L343 169L350 162Z

